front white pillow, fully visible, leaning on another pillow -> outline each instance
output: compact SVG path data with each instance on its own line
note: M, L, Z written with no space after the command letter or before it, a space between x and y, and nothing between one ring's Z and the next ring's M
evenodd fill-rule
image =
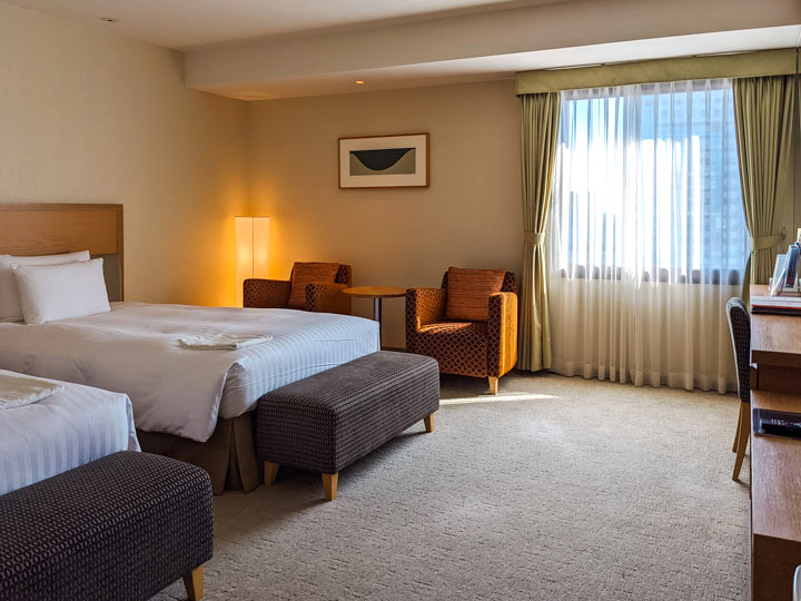
M44 324L111 311L102 259L65 265L11 264L26 324Z

